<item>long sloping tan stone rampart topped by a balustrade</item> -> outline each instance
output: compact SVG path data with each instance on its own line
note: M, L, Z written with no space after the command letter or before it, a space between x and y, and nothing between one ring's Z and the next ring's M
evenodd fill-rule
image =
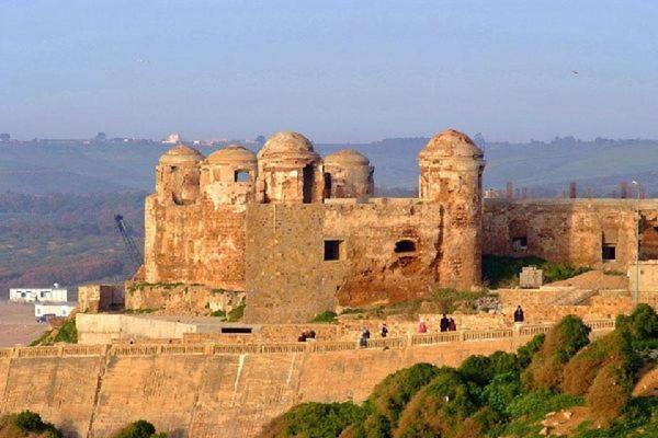
M590 322L593 333L613 321ZM390 372L513 351L549 324L354 342L59 345L0 349L0 412L30 408L69 437L145 418L171 437L253 437L302 402L362 402Z

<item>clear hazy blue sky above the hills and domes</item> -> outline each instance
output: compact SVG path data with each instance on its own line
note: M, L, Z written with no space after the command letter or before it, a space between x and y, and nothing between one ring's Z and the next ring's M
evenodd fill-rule
M658 2L0 0L0 131L16 138L449 126L658 138Z

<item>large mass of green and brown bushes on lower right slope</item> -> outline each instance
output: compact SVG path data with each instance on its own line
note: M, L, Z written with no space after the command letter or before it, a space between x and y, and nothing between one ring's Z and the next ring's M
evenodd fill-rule
M642 304L589 342L566 316L515 354L470 356L460 368L418 364L384 379L361 405L304 404L275 418L265 437L536 437L548 413L581 410L569 436L658 434L658 397L633 397L640 369L655 366L658 315ZM645 358L645 359L643 359ZM643 362L644 360L644 362Z

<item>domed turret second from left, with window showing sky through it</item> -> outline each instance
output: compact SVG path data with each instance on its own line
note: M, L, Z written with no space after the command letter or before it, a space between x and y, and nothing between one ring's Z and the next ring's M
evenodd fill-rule
M203 196L215 205L251 203L257 174L256 153L241 146L227 146L211 153L201 164Z

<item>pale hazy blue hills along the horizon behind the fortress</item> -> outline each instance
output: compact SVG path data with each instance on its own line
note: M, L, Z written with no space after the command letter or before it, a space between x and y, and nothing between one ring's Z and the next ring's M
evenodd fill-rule
M428 138L393 138L371 143L317 145L320 153L353 148L375 165L375 183L392 193L413 192L418 184L417 155ZM658 140L582 141L572 137L549 142L486 142L485 186L529 187L556 196L578 184L580 194L619 193L622 181L640 181L647 193L658 194ZM168 149L160 143L105 142L82 145L45 141L0 145L0 192L43 195L152 191L154 169ZM201 148L204 154L214 149Z

